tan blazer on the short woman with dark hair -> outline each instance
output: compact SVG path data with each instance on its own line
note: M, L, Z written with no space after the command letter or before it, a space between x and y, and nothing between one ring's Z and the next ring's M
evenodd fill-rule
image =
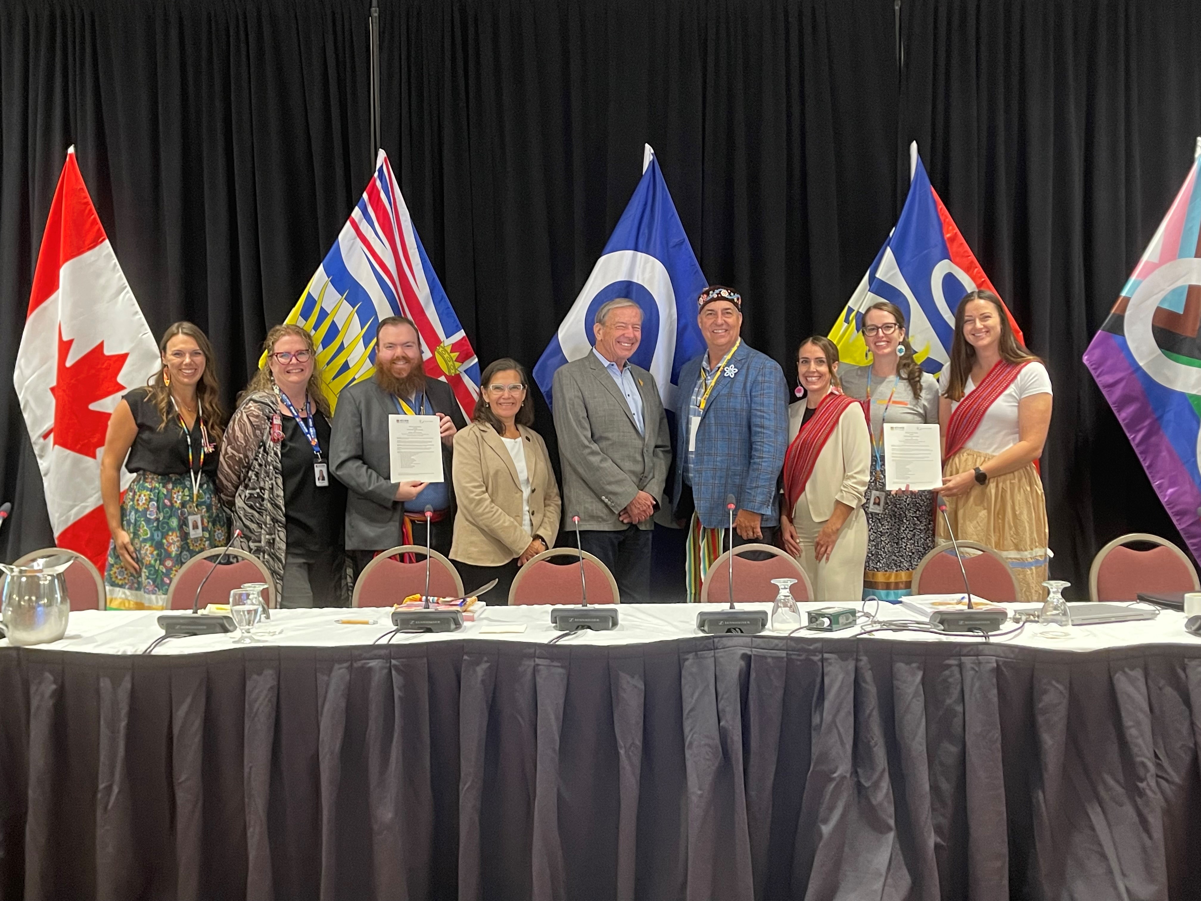
M558 485L542 435L518 426L525 438L530 478L530 521L521 527L521 483L513 458L496 429L471 423L454 436L454 517L450 559L474 566L501 566L521 555L533 536L550 548L558 535Z

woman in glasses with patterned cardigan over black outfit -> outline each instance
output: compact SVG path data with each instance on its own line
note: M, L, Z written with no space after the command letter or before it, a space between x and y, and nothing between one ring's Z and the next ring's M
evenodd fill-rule
M280 585L280 607L345 607L346 489L329 472L329 401L312 335L276 326L229 419L217 489L239 543Z

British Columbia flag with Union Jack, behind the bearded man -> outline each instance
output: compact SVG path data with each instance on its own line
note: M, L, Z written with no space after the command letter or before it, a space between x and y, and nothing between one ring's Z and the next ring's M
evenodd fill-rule
M388 316L416 323L426 375L450 386L470 419L479 396L479 360L381 150L363 197L285 320L312 334L330 404L375 371L376 324Z

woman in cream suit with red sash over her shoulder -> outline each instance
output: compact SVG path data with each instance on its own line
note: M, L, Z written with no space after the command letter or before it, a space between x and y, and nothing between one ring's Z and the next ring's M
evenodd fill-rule
M801 561L814 601L859 603L867 557L864 491L872 469L867 417L838 386L838 348L821 336L796 352L805 399L788 408L784 549Z

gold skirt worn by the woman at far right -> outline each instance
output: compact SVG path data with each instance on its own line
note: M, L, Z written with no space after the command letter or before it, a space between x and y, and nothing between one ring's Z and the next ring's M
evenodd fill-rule
M955 476L984 466L992 454L960 450L943 466L943 475ZM946 499L946 517L960 541L979 542L997 550L1017 580L1018 601L1041 601L1047 578L1047 505L1042 481L1027 464L1016 472L990 478L982 488ZM934 518L940 541L950 541L942 515Z

